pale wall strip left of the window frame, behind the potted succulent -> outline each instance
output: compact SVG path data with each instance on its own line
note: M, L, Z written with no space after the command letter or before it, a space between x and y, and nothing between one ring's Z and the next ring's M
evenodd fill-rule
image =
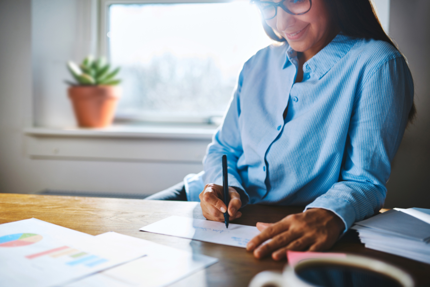
M31 12L34 123L40 127L75 125L67 97L71 80L65 63L95 54L97 31L92 0L33 0Z

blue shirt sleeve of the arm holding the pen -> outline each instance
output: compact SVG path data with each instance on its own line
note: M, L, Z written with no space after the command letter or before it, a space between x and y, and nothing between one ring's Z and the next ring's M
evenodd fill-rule
M244 68L245 69L245 68ZM242 186L242 179L237 170L237 161L243 154L242 140L239 129L240 116L240 90L243 83L244 69L240 72L237 87L230 100L223 123L218 128L206 150L203 158L204 184L215 183L222 185L222 160L223 154L227 155L228 185L234 187L240 194L242 206L249 202L249 196Z

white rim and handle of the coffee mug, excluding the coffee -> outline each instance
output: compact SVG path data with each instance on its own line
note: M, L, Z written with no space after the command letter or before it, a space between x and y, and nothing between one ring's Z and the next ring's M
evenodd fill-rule
M316 287L318 285L308 283L298 274L298 270L312 270L312 266L341 266L357 268L375 272L384 278L390 278L398 282L401 287L414 287L412 277L402 269L391 264L364 256L347 254L345 257L308 258L296 263L294 266L286 265L283 272L263 271L255 275L249 283L249 287ZM352 270L352 269L351 269ZM374 274L374 273L373 273ZM348 287L348 286L345 286Z

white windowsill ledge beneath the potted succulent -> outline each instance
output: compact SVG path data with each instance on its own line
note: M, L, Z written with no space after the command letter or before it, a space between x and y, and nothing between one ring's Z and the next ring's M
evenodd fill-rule
M28 127L27 136L59 136L88 138L134 138L134 139L212 139L215 125L139 124L112 125L106 128L51 128Z

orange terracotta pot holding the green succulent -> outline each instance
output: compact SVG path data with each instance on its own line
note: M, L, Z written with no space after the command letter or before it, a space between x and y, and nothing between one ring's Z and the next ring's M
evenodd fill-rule
M114 120L119 86L71 86L68 93L80 127L107 127Z

